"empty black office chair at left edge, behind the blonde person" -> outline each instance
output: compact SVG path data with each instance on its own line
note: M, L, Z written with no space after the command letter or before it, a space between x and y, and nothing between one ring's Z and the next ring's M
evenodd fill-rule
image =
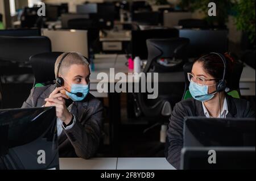
M51 52L51 41L44 36L0 36L0 80L2 81L2 107L22 106L30 89L32 69L29 62L33 54Z

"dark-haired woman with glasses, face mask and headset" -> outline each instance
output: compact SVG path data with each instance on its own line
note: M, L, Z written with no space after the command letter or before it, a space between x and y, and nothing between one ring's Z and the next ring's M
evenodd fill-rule
M225 92L232 79L232 69L233 58L228 53L210 53L194 62L188 73L193 98L175 105L167 131L166 158L177 169L183 147L184 117L255 117L249 102L232 98Z

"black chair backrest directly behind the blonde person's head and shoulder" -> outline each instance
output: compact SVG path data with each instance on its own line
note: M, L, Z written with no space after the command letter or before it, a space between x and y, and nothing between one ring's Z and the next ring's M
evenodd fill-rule
M54 66L63 52L48 52L35 54L30 57L35 83L50 84L55 80Z

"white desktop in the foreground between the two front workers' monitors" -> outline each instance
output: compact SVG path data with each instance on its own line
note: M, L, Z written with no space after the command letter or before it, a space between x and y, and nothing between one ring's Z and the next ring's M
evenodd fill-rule
M60 158L60 170L175 170L166 158Z

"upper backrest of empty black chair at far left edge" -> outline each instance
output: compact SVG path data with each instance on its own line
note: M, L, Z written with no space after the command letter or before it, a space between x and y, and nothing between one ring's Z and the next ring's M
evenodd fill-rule
M51 40L45 36L0 36L0 61L28 62L30 56L51 52Z

